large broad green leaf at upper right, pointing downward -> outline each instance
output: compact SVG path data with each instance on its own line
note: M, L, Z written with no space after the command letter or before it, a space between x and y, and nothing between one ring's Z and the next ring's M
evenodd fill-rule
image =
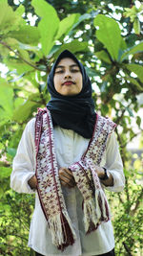
M99 27L99 30L96 31L96 37L107 48L112 59L117 60L122 38L117 22L103 14L98 14L93 23Z

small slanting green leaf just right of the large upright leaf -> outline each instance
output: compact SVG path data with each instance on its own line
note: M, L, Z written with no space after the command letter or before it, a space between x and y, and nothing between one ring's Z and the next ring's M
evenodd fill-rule
M62 35L67 35L71 31L72 26L78 21L79 16L79 13L73 13L68 17L62 19L60 21L59 30L57 32L57 35L55 36L55 39L59 39Z

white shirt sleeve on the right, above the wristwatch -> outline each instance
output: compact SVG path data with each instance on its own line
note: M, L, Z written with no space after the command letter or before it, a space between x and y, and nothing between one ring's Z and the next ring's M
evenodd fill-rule
M123 164L118 149L118 143L114 132L109 136L106 149L106 164L105 167L113 177L113 186L105 187L112 192L120 192L125 186L125 176L123 173Z

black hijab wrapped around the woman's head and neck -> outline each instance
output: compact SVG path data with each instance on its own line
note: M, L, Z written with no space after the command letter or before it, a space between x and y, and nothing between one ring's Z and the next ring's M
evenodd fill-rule
M63 96L54 88L55 67L62 58L72 58L80 68L83 87L77 95ZM51 94L51 101L47 108L51 111L53 126L72 129L84 138L92 138L96 117L92 101L92 84L84 66L70 51L62 52L54 62L48 76L48 90Z

